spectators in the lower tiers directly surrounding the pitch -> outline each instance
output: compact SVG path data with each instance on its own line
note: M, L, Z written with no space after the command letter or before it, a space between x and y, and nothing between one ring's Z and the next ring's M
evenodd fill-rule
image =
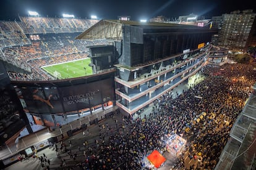
M2 60L16 67L31 71L31 75L9 72L15 81L51 79L40 67L54 63L84 59L88 55L87 46L106 44L105 39L82 41L75 39L80 33L39 34L40 39L33 40L31 45L15 46L2 49ZM33 69L32 69L33 68Z

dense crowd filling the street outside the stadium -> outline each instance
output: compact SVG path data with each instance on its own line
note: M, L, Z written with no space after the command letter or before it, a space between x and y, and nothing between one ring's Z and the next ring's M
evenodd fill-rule
M65 141L56 145L60 167L142 169L145 166L143 158L153 150L166 152L165 135L178 134L187 140L182 154L187 152L186 159L198 160L198 163L185 168L181 154L173 169L214 169L231 127L252 92L256 79L254 67L242 64L204 67L201 74L205 79L200 84L192 84L182 94L164 94L155 100L150 115L124 118L121 124L114 120L116 125L99 124L100 132L95 143L85 141L78 150L70 149L70 140L68 144ZM202 112L207 113L202 121L194 121ZM73 164L68 164L72 161L62 157L66 153L70 160L74 160ZM83 155L83 161L75 161L74 154Z

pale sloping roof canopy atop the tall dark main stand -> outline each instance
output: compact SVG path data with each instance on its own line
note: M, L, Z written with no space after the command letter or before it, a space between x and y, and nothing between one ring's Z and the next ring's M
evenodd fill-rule
M149 33L148 30L162 30L162 32L178 32L182 31L209 31L208 28L202 28L194 25L181 25L176 23L160 23L160 22L136 22L136 21L126 21L126 20L100 20L88 30L84 31L82 34L77 36L75 39L122 39L122 26L130 25L142 28L143 33ZM147 30L147 31L145 31ZM151 31L153 33L153 31ZM158 31L159 33L159 31Z

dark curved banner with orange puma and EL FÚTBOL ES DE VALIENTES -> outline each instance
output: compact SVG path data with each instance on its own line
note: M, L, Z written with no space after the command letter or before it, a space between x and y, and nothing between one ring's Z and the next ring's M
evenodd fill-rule
M63 113L93 107L113 99L113 80L67 87L21 87L20 101L29 113Z

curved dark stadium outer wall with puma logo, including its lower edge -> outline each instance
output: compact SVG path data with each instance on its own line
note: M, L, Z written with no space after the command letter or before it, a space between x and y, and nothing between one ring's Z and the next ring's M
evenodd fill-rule
M114 72L55 81L12 81L23 111L40 118L45 126L59 126L54 116L77 115L84 110L113 105Z

